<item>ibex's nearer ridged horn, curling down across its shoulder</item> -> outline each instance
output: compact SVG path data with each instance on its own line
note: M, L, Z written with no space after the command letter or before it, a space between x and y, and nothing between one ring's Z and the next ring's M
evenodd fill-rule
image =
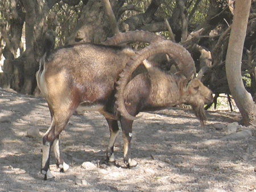
M117 110L127 119L135 120L138 119L138 117L131 116L126 110L123 98L125 86L129 81L131 73L133 73L133 71L143 62L143 60L147 59L151 55L155 55L156 53L166 53L179 60L180 62L177 64L177 66L186 77L196 73L195 63L189 52L181 45L173 43L172 41L163 40L159 43L153 43L137 52L131 61L125 66L123 72L119 74L120 78L117 82L117 94L115 95L117 98Z

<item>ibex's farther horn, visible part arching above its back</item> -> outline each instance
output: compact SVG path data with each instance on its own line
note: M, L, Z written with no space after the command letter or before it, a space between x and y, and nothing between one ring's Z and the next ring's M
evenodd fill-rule
M136 41L141 41L144 43L154 43L156 41L166 40L166 38L153 34L148 31L127 31L119 32L113 37L108 37L108 39L102 44L104 45L119 45L123 43L133 43Z

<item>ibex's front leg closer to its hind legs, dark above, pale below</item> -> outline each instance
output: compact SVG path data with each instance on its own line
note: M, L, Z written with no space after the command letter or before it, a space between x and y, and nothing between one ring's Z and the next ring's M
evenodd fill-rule
M109 131L110 131L109 145L106 149L106 160L109 165L115 165L114 144L118 136L119 127L118 127L117 120L112 120L107 118L106 120L109 124Z

